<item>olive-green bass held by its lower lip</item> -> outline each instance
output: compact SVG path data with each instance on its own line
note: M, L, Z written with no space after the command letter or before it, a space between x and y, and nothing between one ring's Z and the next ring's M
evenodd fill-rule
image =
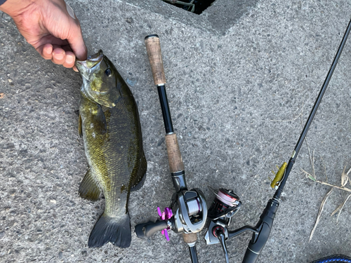
M105 211L95 223L88 246L111 242L131 245L128 198L143 186L147 161L138 107L126 82L99 50L76 60L83 79L79 102L79 135L83 137L88 171L79 195L90 201L105 196Z

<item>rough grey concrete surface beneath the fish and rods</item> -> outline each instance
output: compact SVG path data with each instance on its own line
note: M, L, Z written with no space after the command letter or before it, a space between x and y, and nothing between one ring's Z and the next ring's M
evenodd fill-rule
M89 53L99 48L131 85L148 161L145 185L131 194L135 224L156 220L169 205L164 127L143 43L159 34L173 125L187 184L232 188L243 203L232 228L256 224L274 193L271 170L289 160L351 17L350 1L217 0L194 15L159 0L69 1ZM202 27L203 25L203 27ZM351 167L350 59L345 46L308 133L316 173L340 184ZM180 235L138 239L130 248L87 247L104 201L79 198L87 168L77 131L81 78L43 60L0 14L0 262L190 262ZM303 112L301 120L299 114ZM293 167L270 239L258 262L311 262L350 254L350 203L338 224L331 213L347 197L336 190L308 242L330 187L309 181L306 145ZM350 186L349 186L350 187ZM349 201L350 202L350 201ZM241 262L251 235L227 242ZM224 262L220 245L199 234L200 262Z

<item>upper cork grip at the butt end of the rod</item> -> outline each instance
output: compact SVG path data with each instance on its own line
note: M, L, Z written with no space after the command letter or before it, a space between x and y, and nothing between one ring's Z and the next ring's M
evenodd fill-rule
M164 63L162 62L159 36L146 36L145 45L147 56L150 60L152 76L154 77L155 85L166 84L166 76L164 76Z

